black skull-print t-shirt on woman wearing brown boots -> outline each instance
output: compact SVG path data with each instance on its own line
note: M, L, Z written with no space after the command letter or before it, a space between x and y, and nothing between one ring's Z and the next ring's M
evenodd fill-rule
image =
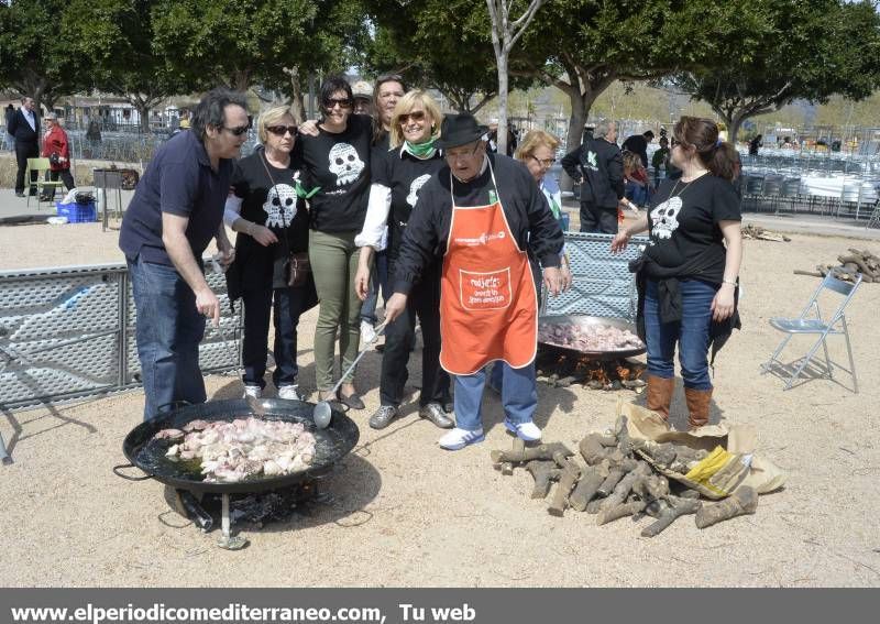
M664 180L648 211L646 253L664 269L676 269L705 254L700 277L721 283L726 251L721 221L740 221L739 198L726 179L704 174L690 183Z

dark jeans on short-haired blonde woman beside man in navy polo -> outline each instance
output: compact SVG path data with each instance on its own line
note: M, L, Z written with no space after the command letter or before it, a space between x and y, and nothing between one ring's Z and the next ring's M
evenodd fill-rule
M275 372L272 380L275 387L296 383L299 368L296 364L296 328L308 299L307 287L244 291L244 344L242 360L245 385L265 387L268 353L268 319L274 309L275 324Z

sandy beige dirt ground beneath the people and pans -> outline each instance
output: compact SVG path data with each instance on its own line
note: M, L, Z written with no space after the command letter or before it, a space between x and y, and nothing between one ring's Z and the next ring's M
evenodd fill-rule
M654 539L640 538L629 519L596 527L586 514L552 517L546 502L529 499L525 471L503 477L492 468L488 451L510 445L494 396L485 398L486 441L462 451L441 450L440 431L413 405L387 429L372 430L380 357L370 353L358 379L367 408L351 413L361 441L326 482L333 501L287 523L245 527L250 546L237 552L216 547L217 532L201 534L170 512L161 484L111 472L124 462L122 439L141 420L141 393L0 418L8 441L11 423L21 427L15 462L0 467L0 585L878 587L880 390L872 358L880 352L880 285L864 285L848 316L859 394L843 374L843 385L811 380L783 392L779 379L759 371L779 339L768 318L795 315L816 286L792 270L832 262L848 247L878 245L792 238L746 241L744 327L715 366L713 422L754 425L759 452L789 473L754 516L704 530L685 518ZM120 261L116 242L98 225L0 228L0 269ZM315 318L314 310L300 326L307 391L315 388ZM805 351L803 341L798 347ZM845 358L840 342L832 354ZM410 368L416 384L418 366ZM207 384L217 398L241 392L229 376ZM546 440L576 445L613 423L616 399L539 385L536 420ZM681 390L673 413L681 426Z

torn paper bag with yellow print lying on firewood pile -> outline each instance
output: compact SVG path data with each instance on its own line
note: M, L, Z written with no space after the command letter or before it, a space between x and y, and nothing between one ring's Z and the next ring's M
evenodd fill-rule
M724 499L740 485L760 493L772 492L785 483L785 473L771 461L757 457L757 435L747 425L711 425L693 433L675 431L659 414L617 399L617 415L627 417L627 430L634 439L658 445L674 442L689 449L706 451L698 461L690 461L685 471L671 470L653 460L649 452L637 451L659 472L688 485L708 499ZM703 453L701 453L702 456ZM681 470L681 466L679 467Z

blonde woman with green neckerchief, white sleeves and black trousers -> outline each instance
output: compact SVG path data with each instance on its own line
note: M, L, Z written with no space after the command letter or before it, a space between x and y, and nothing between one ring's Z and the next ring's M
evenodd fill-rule
M424 91L409 91L397 102L391 125L392 151L373 163L366 221L355 239L361 248L361 258L354 285L361 299L369 295L370 265L386 226L388 271L393 274L400 241L409 216L416 209L419 190L443 166L443 157L436 145L441 119L437 102ZM381 405L370 418L370 426L374 429L384 429L400 412L417 316L425 343L419 416L444 429L453 426L443 408L451 403L450 380L440 369L440 263L433 262L414 287L404 314L385 330Z

